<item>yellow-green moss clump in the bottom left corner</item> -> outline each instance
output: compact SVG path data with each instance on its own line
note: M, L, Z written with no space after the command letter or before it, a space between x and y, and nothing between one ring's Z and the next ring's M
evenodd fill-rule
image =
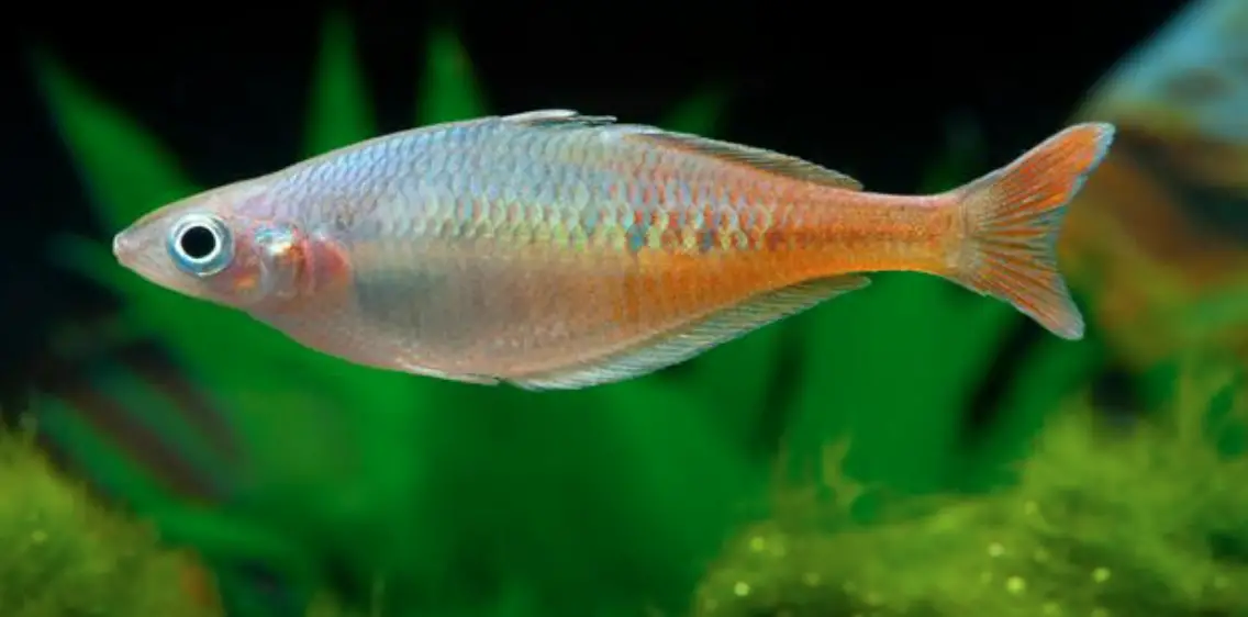
M195 560L95 505L32 447L0 434L0 613L216 617Z

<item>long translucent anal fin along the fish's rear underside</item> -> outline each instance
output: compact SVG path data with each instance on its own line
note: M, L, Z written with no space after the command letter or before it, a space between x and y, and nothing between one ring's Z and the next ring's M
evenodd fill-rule
M680 364L716 345L867 284L870 279L857 274L799 283L760 294L684 328L660 333L619 353L508 381L527 390L574 390L624 381Z

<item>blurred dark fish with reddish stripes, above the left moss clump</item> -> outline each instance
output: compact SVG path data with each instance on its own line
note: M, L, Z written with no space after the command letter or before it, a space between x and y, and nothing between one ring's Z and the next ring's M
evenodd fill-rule
M117 507L227 501L231 479L246 469L223 409L158 342L120 325L94 315L54 333L27 375L40 399L30 419L36 441ZM220 606L213 576L197 558L187 556L182 585L198 603Z

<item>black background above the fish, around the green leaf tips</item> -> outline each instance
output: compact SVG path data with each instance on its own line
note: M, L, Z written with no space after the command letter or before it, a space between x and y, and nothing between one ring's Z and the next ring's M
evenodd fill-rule
M1056 131L1181 0L1129 2L30 2L6 9L0 374L16 385L47 327L102 297L44 258L91 227L26 51L42 46L172 147L198 183L295 161L324 12L353 17L381 127L408 127L434 22L454 24L492 110L572 107L654 122L706 84L720 136L912 191L973 122L996 166ZM987 171L986 168L982 171Z

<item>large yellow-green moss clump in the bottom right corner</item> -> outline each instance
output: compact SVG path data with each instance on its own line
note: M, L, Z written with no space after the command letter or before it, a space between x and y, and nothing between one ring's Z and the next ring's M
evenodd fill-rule
M711 568L694 615L1248 615L1238 374L1184 370L1167 413L1132 425L1073 399L1016 486L920 509L902 499L910 512L876 525L846 524L844 504L806 486L781 491Z

